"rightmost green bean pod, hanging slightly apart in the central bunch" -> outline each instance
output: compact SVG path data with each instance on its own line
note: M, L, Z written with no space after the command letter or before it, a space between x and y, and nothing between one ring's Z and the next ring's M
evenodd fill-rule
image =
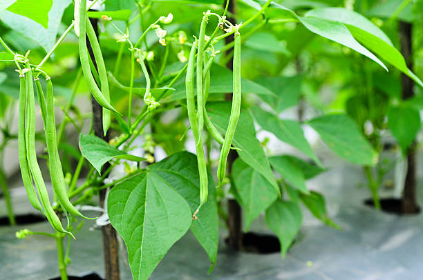
M227 126L225 141L223 142L222 150L220 150L220 159L218 165L218 179L222 183L225 179L226 161L229 150L234 139L236 126L238 124L239 114L241 110L241 35L235 34L234 38L234 61L233 61L233 75L234 75L234 92L232 96L231 115L229 117L229 124Z

